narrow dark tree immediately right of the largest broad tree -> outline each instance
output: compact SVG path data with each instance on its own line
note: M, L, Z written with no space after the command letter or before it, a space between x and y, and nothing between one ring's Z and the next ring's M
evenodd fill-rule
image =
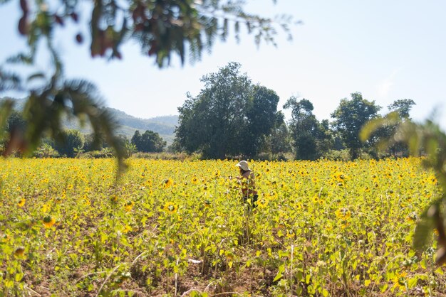
M313 114L313 104L307 99L298 100L292 96L284 105L291 108L291 121L289 123L296 159L314 160L321 155L318 150L318 138L324 134L320 123Z

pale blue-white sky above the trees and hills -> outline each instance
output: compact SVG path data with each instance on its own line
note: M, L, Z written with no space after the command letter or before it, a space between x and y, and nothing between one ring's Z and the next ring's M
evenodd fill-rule
M200 61L180 65L174 58L161 70L133 41L123 47L123 60L92 59L87 43L76 44L73 26L58 31L56 44L66 77L94 82L109 107L135 117L177 114L187 92L199 94L203 75L234 61L252 82L279 95L278 109L296 96L313 103L318 119L331 119L341 99L361 92L383 107L383 114L396 99L413 99L415 121L435 114L446 129L446 1L278 0L274 5L248 0L245 11L287 13L302 23L291 26L291 42L279 31L276 47L257 47L247 34L237 43L229 28L228 40L215 43L211 53L204 51ZM0 46L0 61L24 48L16 29L19 18L19 1L0 6L0 40L8 41ZM87 19L81 13L81 21ZM42 58L40 68L47 67ZM289 118L290 112L284 113Z

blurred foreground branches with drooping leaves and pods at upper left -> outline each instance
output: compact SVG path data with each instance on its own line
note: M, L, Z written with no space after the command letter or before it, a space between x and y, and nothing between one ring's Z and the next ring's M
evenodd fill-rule
M22 17L18 28L27 40L28 52L14 55L7 64L30 65L33 72L24 79L9 70L8 65L0 65L0 92L27 92L28 102L23 114L33 124L28 125L23 134L14 134L14 138L7 139L6 151L14 148L33 151L43 136L54 137L61 132L61 118L68 114L88 119L95 138L103 135L103 139L115 148L120 168L123 168L125 149L114 134L116 123L113 117L101 108L97 90L89 82L67 80L63 76L63 61L58 55L54 31L63 29L65 23L73 21L77 24L78 43L84 39L81 28L89 24L92 57L120 59L123 57L121 45L135 40L142 53L155 57L161 68L169 65L172 54L179 56L182 63L186 53L192 61L198 60L202 50L212 48L217 36L226 40L229 22L234 24L237 39L240 25L246 25L248 33L254 34L256 44L261 41L274 43L276 26L289 32L291 18L261 18L244 12L242 4L243 1L229 0L130 0L125 3L97 0L92 6L81 9L80 1L76 0L21 0ZM85 23L78 21L81 11L90 15L85 18ZM36 59L42 56L38 55L39 50L46 51L52 62L46 72L36 71ZM11 100L0 104L0 127L4 126L13 104Z

